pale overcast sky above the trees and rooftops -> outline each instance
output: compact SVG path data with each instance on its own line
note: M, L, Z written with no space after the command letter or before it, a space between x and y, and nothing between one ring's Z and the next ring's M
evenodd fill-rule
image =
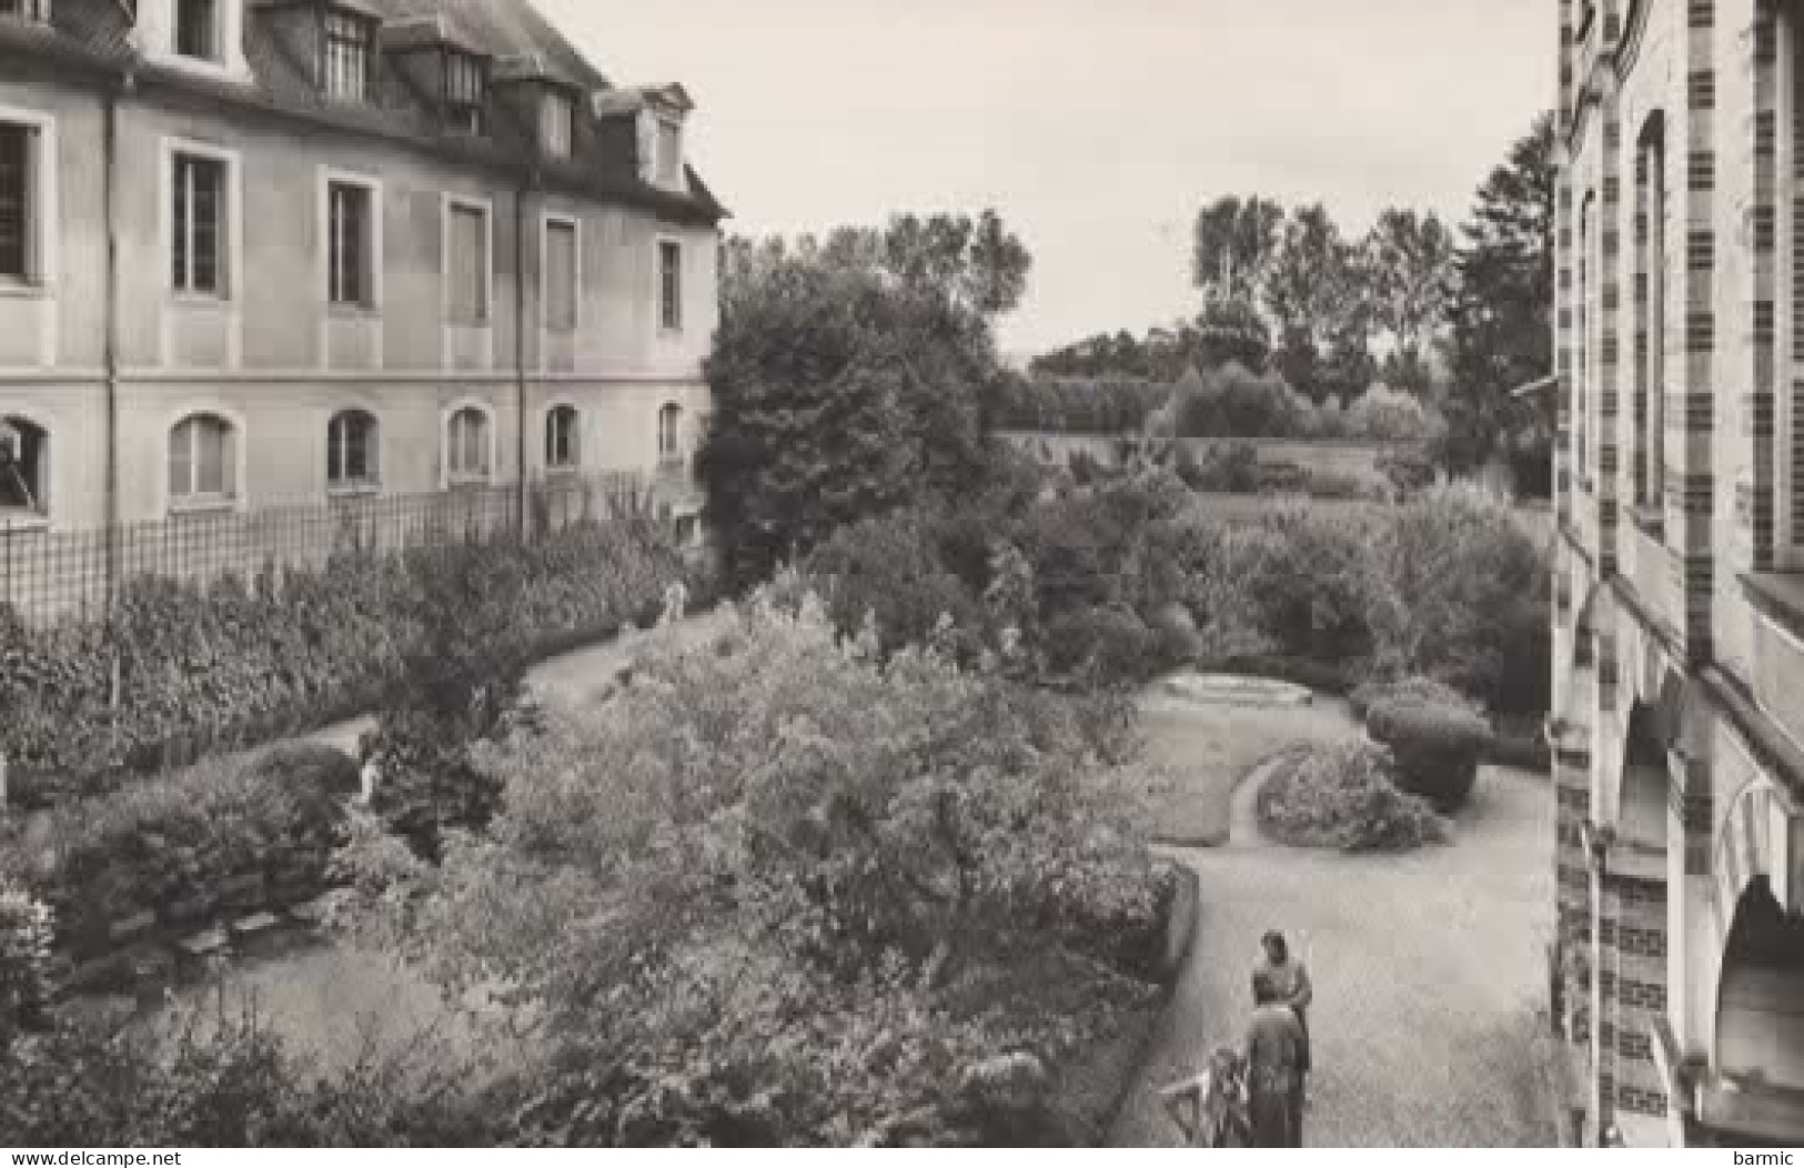
M615 85L682 81L740 235L996 208L1041 352L1192 316L1220 195L1465 218L1555 92L1555 0L538 0Z

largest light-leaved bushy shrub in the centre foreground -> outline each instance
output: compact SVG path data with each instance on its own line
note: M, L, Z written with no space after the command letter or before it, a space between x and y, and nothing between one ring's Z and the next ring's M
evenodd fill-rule
M482 749L505 807L397 890L406 944L557 1040L509 1110L525 1143L1001 1139L960 1103L981 1065L1050 1065L1146 1000L1113 962L1144 964L1165 894L1093 742L1063 699L756 601Z

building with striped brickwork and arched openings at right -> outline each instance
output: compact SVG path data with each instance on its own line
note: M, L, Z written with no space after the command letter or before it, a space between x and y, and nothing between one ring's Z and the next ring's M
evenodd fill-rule
M1559 0L1555 1007L1582 1139L1804 1143L1804 4Z

